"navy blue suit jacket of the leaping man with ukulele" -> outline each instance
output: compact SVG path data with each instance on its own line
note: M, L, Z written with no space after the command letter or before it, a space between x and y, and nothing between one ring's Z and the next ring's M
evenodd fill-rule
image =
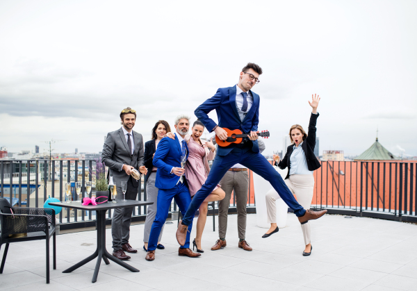
M259 123L259 95L250 91L254 99L254 103L247 113L243 122L240 120L238 110L236 109L236 85L228 88L219 88L213 97L207 99L198 106L194 111L198 119L206 126L209 132L217 125L213 119L208 117L211 110L215 110L218 115L218 126L229 128L230 130L240 129L243 133L250 133L250 131L258 131ZM252 151L259 153L258 141L252 141ZM218 147L218 156L226 156L236 144L231 144L229 147Z

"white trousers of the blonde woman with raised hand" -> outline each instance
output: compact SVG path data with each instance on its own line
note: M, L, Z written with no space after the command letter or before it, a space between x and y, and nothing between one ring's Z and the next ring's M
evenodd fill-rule
M311 200L313 199L314 177L313 175L291 175L284 180L287 187L293 192L298 203L304 209L310 209ZM277 223L277 206L275 201L280 199L279 194L274 188L266 193L266 210L268 213L268 223ZM311 242L310 224L301 224L302 234L304 235L305 244Z

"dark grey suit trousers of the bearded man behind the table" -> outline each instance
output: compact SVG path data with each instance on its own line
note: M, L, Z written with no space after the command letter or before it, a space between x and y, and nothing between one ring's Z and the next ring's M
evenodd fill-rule
M132 177L127 181L126 200L136 200L138 196L138 186L133 186ZM121 187L116 187L117 199L123 200L123 192ZM111 203L111 202L110 202ZM111 221L111 235L113 237L113 250L118 251L122 249L123 244L129 242L130 224L132 220L133 207L129 208L115 208L113 218Z

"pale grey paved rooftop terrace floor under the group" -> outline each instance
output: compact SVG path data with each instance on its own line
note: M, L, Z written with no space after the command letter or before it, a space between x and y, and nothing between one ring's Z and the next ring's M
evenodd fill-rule
M49 285L44 278L44 240L10 244L0 290L417 290L417 225L325 215L311 222L313 251L303 257L295 215L288 214L286 228L270 238L261 238L266 229L256 226L256 215L248 215L246 239L252 252L238 249L236 219L229 215L227 247L211 251L218 226L213 232L208 217L200 258L178 256L177 224L165 224L165 249L157 250L153 262L145 260L141 249L143 224L131 226L130 243L138 253L127 263L140 272L103 262L96 283L91 283L95 260L62 273L95 251L95 231L57 235L57 269L51 263ZM111 252L111 229L106 239Z

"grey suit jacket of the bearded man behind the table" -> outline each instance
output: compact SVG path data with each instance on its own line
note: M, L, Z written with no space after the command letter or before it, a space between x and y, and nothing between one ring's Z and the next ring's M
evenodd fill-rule
M122 128L107 134L106 142L104 142L101 160L110 168L113 174L113 181L117 187L121 187L122 181L129 180L129 176L122 169L122 165L130 165L139 170L143 166L143 139L140 133L133 132L133 141L135 142L135 151L133 156L129 152L126 138ZM120 170L122 169L122 170ZM133 178L132 178L133 179ZM138 185L138 181L133 179L133 185Z

